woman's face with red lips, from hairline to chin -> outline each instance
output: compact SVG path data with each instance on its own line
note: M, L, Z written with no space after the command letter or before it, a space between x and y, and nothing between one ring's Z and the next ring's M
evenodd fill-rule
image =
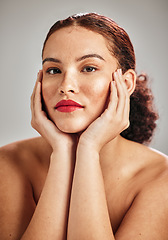
M81 132L100 116L116 69L117 60L98 33L73 26L49 37L43 53L42 95L50 119L61 131Z

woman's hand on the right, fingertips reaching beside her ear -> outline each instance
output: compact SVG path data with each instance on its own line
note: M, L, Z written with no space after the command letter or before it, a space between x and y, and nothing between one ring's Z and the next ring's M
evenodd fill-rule
M107 109L91 123L79 141L97 151L129 126L130 98L121 69L114 72L110 90Z

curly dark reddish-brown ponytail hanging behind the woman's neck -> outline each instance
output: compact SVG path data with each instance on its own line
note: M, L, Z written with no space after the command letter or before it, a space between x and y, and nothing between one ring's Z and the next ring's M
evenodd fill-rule
M130 97L130 126L121 133L128 140L148 144L152 140L158 113L145 73L137 76L136 88Z

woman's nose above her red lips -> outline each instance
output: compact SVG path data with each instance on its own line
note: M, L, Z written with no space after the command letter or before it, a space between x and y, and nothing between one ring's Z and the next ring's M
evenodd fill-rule
M71 72L65 73L58 91L60 94L78 93L79 88L78 88L77 76L75 76L75 74Z

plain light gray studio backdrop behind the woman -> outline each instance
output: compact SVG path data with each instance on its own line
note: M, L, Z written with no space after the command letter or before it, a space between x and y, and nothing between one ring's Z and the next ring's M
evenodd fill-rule
M38 136L30 125L30 96L42 44L56 20L79 12L111 17L128 32L160 113L151 147L168 154L167 0L0 0L0 146Z

